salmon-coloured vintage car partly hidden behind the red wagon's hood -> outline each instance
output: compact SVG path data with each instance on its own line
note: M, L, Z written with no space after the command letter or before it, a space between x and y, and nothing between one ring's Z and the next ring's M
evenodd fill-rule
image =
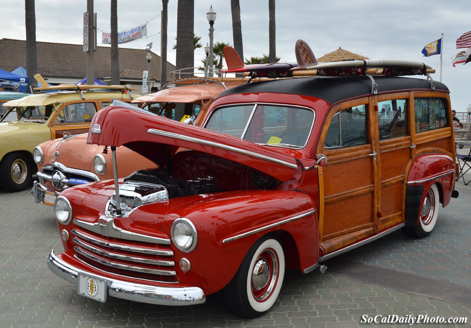
M201 123L209 105L221 92L246 83L241 79L233 81L207 81L186 79L195 84L164 89L132 100L133 105L164 116L164 107L171 106L169 118L177 121L191 119L195 125ZM178 85L178 84L177 84ZM196 117L196 118L195 118ZM109 148L87 145L87 134L66 136L46 141L34 150L38 165L38 182L33 182L32 194L37 203L54 205L58 194L74 185L113 179L113 166ZM116 152L118 177L124 178L138 169L156 168L156 164L126 147Z

